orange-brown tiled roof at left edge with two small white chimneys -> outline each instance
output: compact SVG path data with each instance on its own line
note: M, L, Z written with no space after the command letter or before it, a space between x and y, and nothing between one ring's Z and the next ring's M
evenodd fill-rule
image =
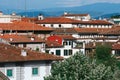
M44 43L40 37L36 35L18 35L18 34L1 34L0 38L10 43Z

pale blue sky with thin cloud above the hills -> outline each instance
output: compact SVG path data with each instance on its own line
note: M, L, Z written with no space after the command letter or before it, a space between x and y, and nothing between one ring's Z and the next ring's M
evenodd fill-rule
M28 10L82 6L98 2L120 3L120 0L0 0L0 7L8 9L25 9L25 1Z

